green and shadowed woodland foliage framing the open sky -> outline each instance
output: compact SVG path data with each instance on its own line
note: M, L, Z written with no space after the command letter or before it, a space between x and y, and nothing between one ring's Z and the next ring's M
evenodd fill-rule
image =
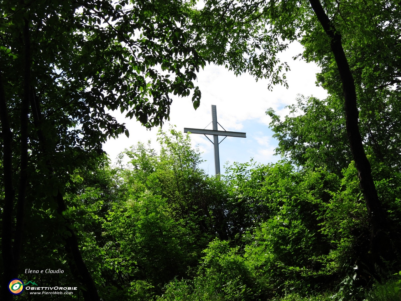
M399 300L399 2L195 4L1 2L0 298L20 277L78 287L30 300ZM293 41L329 96L267 110L282 161L208 177L171 130L109 165L110 110L196 109L206 62L286 85Z

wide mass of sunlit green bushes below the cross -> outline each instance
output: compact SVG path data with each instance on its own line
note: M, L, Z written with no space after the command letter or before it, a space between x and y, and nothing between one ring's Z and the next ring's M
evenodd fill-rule
M208 177L198 169L200 156L188 136L160 132L159 142L160 153L139 143L122 153L117 167L105 162L74 172L66 214L75 221L102 300L300 300L319 294L351 300L367 297L369 289L361 287L377 283L356 275L369 249L369 224L353 163L340 175L299 170L286 160L235 163L225 175ZM401 174L373 166L392 232L399 233ZM36 214L41 228L56 218L49 209ZM60 281L74 283L62 240L47 231L30 236L27 246L37 240L45 248L30 249L35 259L24 265L37 268L46 260L65 270ZM389 262L381 276L397 268L397 260ZM45 285L54 278L35 280Z

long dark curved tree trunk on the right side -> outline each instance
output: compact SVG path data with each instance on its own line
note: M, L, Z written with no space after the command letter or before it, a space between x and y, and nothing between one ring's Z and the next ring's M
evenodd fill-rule
M363 149L362 137L358 127L358 108L356 103L356 92L354 78L347 58L342 48L341 35L336 31L334 25L328 18L324 11L322 4L319 0L309 0L310 5L316 14L320 24L323 26L324 31L331 39L331 50L336 60L338 72L342 82L344 91L344 107L345 107L345 120L348 139L352 156L355 161L355 166L358 171L359 185L365 198L366 207L369 215L369 222L371 224L371 241L370 252L367 262L370 266L370 272L375 274L375 264L381 265L380 256L389 259L390 244L389 237L385 233L387 230L386 217L381 208L381 203L377 195L375 183L373 182L371 165L366 157L365 150Z

